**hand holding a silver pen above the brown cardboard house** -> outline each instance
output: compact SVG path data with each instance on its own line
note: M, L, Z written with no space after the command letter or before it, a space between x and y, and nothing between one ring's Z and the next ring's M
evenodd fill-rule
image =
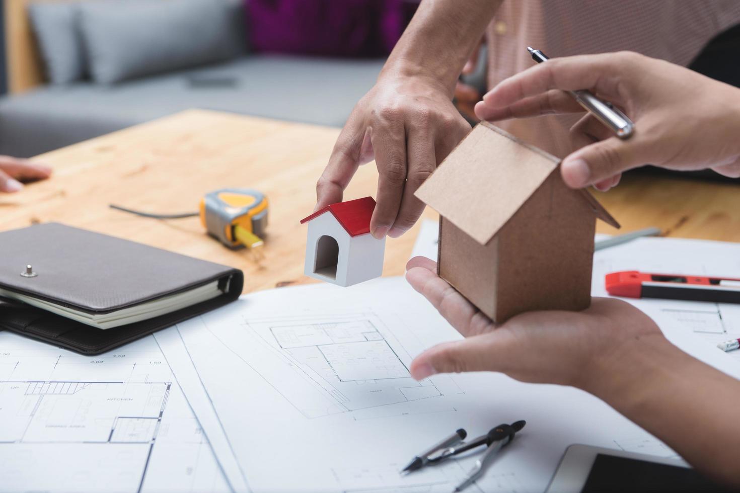
M740 90L667 61L633 52L553 58L502 81L476 106L483 120L582 112L567 92L590 89L635 122L620 140L591 114L571 129L578 149L562 161L568 186L619 182L645 164L713 169L740 177Z

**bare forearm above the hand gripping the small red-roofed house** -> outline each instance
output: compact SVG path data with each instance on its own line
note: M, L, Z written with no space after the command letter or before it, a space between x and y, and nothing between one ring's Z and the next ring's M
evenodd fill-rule
M424 0L383 75L419 76L452 95L457 77L502 0Z

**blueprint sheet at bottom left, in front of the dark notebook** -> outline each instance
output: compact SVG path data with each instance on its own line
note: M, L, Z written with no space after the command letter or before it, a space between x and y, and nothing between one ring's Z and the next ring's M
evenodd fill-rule
M0 491L228 492L152 337L80 356L0 332Z

